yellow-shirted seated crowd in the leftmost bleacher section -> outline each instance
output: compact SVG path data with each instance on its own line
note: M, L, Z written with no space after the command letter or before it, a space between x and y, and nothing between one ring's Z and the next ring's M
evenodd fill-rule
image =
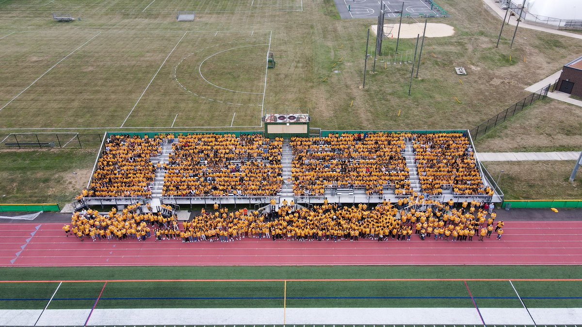
M144 138L111 135L98 159L85 197L151 197L149 185L155 177L150 157L159 152L165 136Z

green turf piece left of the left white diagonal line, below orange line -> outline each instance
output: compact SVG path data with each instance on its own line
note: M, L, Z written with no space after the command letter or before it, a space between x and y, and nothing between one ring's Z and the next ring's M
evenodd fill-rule
M27 301L0 301L0 309L44 309L48 300L55 292L59 283L8 283L0 284L0 299L27 299L37 298L42 300Z

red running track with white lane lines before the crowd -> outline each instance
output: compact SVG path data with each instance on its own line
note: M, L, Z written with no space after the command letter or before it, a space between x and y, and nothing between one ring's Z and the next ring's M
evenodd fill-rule
M37 230L38 227L38 230ZM0 224L0 266L141 265L579 265L582 221L506 222L502 240L240 241L66 237L62 224ZM35 233L36 231L36 233ZM34 234L34 235L33 235ZM22 252L20 252L22 251ZM20 253L19 253L20 252Z

